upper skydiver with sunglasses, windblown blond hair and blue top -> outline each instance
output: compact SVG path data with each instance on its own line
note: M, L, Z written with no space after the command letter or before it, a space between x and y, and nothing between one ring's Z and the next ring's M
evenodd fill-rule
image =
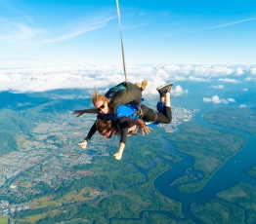
M111 104L109 104L109 100L106 95L99 94L97 91L92 94L92 101L96 109L99 111L100 116L107 116L107 119L113 120L117 122L119 130L121 131L120 144L118 151L113 155L115 160L120 160L122 158L122 153L125 147L125 143L127 140L128 134L128 121L136 120L141 118L143 121L147 122L155 122L155 123L163 123L169 124L172 121L172 111L170 104L170 92L172 88L172 83L163 85L156 90L160 94L161 103L165 103L163 106L163 111L161 113L149 109L146 105L139 105L133 103L127 103L123 105L118 105L113 112L111 108ZM159 104L158 104L159 105ZM88 112L88 110L82 111L74 111L74 114L78 114L78 116L83 113L92 113ZM91 139L92 135L96 132L96 124L91 128L84 142L80 143L82 148L87 146L88 141Z

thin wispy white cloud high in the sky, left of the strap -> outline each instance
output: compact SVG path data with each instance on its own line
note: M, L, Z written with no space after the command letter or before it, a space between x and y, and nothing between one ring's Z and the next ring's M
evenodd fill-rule
M26 43L27 46L30 46L61 42L87 32L101 29L107 26L109 21L116 19L116 17L107 16L105 18L103 16L97 19L95 18L79 18L79 22L73 20L69 21L69 24L63 22L64 25L62 24L58 30L49 30L49 28L38 24L38 21L27 23L0 18L0 45ZM35 28L34 26L40 28Z

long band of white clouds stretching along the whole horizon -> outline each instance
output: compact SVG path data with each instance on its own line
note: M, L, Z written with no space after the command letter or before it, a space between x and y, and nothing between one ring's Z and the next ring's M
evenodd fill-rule
M239 75L237 75L237 71ZM174 85L173 95L189 93L182 86L188 82L212 82L212 89L223 89L223 83L229 85L240 82L255 82L256 67L220 66L220 65L129 65L128 81L148 80L145 93L157 93L155 90L167 82ZM236 78L235 78L236 77ZM42 67L25 69L0 69L0 91L15 93L45 92L59 89L109 88L124 81L122 66L76 66ZM220 84L218 84L220 83ZM229 99L205 98L205 101L230 102Z

